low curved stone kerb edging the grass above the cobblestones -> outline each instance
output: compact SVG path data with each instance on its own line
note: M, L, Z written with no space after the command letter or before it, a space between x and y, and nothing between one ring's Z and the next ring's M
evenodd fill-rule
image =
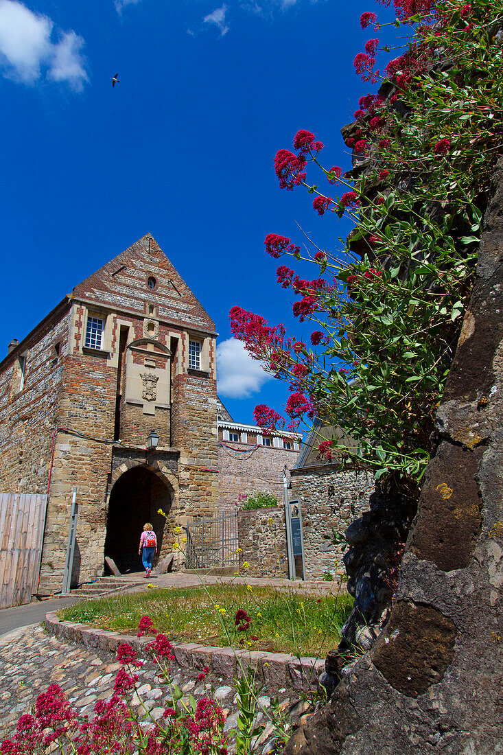
M121 643L129 643L137 652L143 652L152 637L109 632L95 629L87 624L60 621L55 613L45 616L45 628L48 633L60 636L73 643L80 643L88 648L116 652ZM242 669L250 664L255 669L258 680L267 689L296 689L308 692L316 688L319 675L325 670L325 661L310 657L295 657L288 653L269 653L265 651L237 650L231 648L213 648L194 643L172 642L174 657L181 669L193 668L202 671L205 666L222 679L232 681L242 675Z

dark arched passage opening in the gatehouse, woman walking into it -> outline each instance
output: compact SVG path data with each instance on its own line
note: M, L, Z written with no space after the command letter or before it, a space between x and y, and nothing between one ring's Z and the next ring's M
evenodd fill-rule
M149 467L133 467L117 479L110 492L105 556L116 562L122 574L142 569L138 544L145 522L152 522L157 535L156 559L159 557L166 519L158 511L167 515L170 508L168 482Z

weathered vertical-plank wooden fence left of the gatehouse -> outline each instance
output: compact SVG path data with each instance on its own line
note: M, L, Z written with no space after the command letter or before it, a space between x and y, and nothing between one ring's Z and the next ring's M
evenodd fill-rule
M0 609L29 603L39 582L47 495L0 494Z

